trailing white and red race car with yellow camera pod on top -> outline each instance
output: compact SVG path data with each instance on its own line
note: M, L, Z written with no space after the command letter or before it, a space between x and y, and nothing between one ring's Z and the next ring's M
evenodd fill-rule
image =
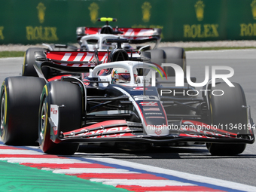
M109 22L116 21L117 19L110 17L102 17L98 19L100 22L105 22L105 26L102 27L78 27L77 28L77 40L79 46L70 44L43 44L45 48L42 47L31 47L26 50L23 62L23 76L34 76L38 77L37 72L34 69L35 63L35 51L94 51L97 50L113 50L117 47L116 42L108 42L106 39L109 38L122 38L128 39L129 41L123 41L122 47L129 51L141 51L150 50L150 45L145 45L145 43L154 43L154 49L157 49L157 45L160 43L160 35L162 29L159 28L112 28ZM130 44L139 44L139 46L132 47ZM56 75L55 70L44 69L44 75L47 78Z

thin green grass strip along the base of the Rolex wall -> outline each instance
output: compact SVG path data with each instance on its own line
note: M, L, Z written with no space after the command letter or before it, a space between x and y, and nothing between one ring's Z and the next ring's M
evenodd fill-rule
M256 47L186 47L184 50L238 50L256 49ZM25 51L0 51L0 58L24 56Z

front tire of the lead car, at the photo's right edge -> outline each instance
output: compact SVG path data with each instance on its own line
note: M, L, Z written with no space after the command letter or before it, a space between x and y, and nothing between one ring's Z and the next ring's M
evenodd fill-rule
M212 87L212 91L222 90L222 96L209 96L210 111L212 124L219 126L223 125L223 130L230 133L236 133L246 136L247 130L244 130L244 125L247 125L247 109L245 93L239 84L233 83L235 87L229 87L226 83L216 84ZM242 129L235 129L235 126L242 125ZM227 126L226 126L227 125ZM206 147L212 155L236 155L241 154L246 147L246 144L218 144L207 143Z

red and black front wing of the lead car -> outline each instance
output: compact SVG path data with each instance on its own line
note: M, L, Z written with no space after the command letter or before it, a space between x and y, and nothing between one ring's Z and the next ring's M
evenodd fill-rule
M194 120L181 120L179 123L166 127L148 127L155 133L163 129L169 130L167 136L148 136L143 131L142 123L126 120L105 120L93 123L78 130L62 133L58 127L59 108L51 105L49 122L50 138L53 142L146 142L146 143L175 143L175 142L211 142L211 143L250 143L254 142L254 124L251 122L248 134L239 135L219 127L207 125Z

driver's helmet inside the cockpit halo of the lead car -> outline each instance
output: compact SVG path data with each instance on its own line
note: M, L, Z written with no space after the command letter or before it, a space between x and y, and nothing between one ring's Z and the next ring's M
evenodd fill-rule
M134 75L136 80L137 75ZM123 68L114 68L112 70L112 84L130 83L130 72Z

